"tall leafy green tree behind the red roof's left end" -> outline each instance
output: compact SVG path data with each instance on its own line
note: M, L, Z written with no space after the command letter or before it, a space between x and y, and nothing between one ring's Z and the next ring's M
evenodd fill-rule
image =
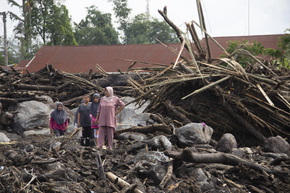
M31 9L31 30L44 45L77 45L72 33L68 10L55 0L34 0Z

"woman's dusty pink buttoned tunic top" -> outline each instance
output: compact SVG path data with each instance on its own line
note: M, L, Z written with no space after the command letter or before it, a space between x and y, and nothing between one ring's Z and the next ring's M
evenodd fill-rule
M98 113L100 113L99 117L99 124L98 126L109 126L109 127L117 127L117 119L115 112L118 108L118 106L124 106L125 103L121 101L120 98L117 96L114 98L114 100L111 103L106 102L101 98Z

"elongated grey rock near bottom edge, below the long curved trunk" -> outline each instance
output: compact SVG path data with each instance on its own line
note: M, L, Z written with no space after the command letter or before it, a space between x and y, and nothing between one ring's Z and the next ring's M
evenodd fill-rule
M203 169L201 169L201 168L197 168L197 169L188 168L188 169L186 169L186 172L188 173L189 176L195 177L195 180L200 183L201 190L203 192L214 188L214 185L212 184L212 182L208 181L208 177L205 175Z

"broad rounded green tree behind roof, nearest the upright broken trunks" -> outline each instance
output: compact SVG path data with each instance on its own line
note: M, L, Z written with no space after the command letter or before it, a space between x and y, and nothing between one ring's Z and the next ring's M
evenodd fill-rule
M126 44L148 44L159 43L155 36L166 43L178 43L175 31L165 22L156 17L147 19L146 14L141 13L127 22L124 28Z

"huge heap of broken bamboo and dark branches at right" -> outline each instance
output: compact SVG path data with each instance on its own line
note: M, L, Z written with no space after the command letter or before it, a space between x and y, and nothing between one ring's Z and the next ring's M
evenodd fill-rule
M235 53L250 55L242 49ZM132 69L151 73L129 82L138 90L137 100L152 99L144 112L182 124L205 122L215 128L215 136L247 133L263 142L272 135L288 138L290 128L289 70L269 64L255 62L244 69L231 58L214 65L184 59L175 67Z

